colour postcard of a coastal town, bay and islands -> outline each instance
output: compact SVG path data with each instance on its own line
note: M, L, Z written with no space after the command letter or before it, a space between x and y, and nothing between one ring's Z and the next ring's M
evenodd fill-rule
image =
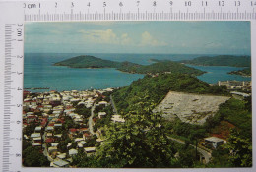
M250 25L26 23L24 168L252 167Z

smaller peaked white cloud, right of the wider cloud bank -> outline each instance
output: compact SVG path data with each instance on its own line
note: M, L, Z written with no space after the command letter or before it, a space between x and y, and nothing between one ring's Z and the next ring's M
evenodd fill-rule
M154 38L148 31L142 33L140 46L166 46L167 43Z

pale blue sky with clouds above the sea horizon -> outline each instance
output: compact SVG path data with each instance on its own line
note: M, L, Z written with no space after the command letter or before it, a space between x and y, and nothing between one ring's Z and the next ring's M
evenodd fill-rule
M27 23L25 52L250 55L249 22Z

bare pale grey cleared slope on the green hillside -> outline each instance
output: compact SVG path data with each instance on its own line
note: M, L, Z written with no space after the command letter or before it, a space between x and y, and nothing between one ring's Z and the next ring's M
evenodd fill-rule
M154 111L161 112L168 120L178 117L183 122L202 125L229 98L170 91Z

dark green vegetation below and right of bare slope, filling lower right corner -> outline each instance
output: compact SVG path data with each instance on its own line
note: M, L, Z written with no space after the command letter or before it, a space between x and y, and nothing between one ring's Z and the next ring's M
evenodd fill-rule
M228 128L227 123L232 124L232 127ZM204 137L212 135L225 137L227 144L213 150L212 161L206 167L252 166L251 97L245 100L227 100L220 106L217 114L209 117L203 126L191 125L177 119L165 123L165 127L171 136L188 143L202 141ZM224 133L227 135L222 136Z

